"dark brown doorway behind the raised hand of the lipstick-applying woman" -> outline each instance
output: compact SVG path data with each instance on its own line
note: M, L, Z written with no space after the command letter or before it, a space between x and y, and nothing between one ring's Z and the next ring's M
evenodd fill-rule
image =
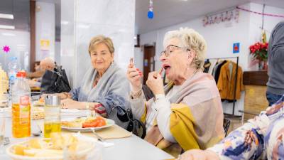
M155 70L155 45L144 46L144 59L143 59L143 84L146 84L148 73Z

